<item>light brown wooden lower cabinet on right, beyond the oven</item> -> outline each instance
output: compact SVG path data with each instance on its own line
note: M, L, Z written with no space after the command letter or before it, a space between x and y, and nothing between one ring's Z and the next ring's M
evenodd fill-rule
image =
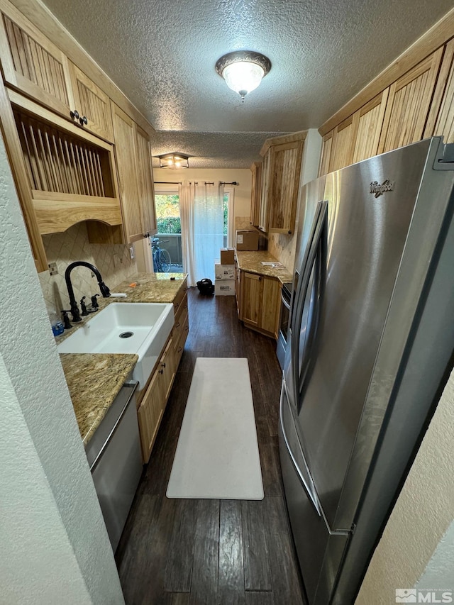
M245 326L277 338L281 284L275 277L241 272L240 320Z

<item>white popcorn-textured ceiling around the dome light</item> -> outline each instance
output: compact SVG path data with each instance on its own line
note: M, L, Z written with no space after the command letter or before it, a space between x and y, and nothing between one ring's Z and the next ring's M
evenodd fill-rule
M266 133L321 126L453 8L453 0L45 4L157 131L177 131L157 133L154 153L191 148L211 167L248 165L254 133L260 148ZM245 49L267 55L272 69L242 104L214 65Z

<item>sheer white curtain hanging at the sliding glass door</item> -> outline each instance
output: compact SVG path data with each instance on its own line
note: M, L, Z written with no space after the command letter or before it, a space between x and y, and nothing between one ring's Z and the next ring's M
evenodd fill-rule
M183 182L179 187L183 268L188 285L209 277L223 247L223 185Z

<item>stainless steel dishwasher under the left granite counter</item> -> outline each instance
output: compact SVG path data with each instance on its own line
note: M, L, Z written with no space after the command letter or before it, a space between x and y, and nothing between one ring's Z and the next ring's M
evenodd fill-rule
M137 386L123 384L85 450L114 552L142 474Z

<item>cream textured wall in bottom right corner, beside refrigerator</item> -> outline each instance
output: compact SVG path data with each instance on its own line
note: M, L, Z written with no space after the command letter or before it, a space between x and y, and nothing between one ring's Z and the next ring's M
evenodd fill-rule
M454 372L370 562L355 605L389 605L395 589L454 591Z

